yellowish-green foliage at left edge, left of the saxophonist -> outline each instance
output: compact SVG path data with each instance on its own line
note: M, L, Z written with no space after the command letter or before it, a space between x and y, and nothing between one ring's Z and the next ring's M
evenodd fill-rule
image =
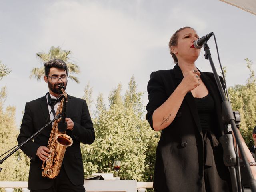
M3 87L0 91L0 154L16 146L16 138L18 136L18 130L15 124L16 108L8 106L4 110L6 97L6 87ZM22 151L19 150L14 153L1 166L3 168L0 174L1 181L28 180L29 159Z

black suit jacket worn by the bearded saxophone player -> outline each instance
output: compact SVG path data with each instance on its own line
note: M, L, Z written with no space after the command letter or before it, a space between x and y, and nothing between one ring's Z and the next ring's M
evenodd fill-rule
M66 134L71 136L73 144L67 147L62 166L64 166L68 178L74 185L84 184L84 171L80 142L92 144L95 140L94 128L85 100L67 97L66 117L74 122L74 129L67 130ZM22 119L18 143L24 142L32 134L42 128L49 115L46 96L26 103L25 112ZM48 122L50 119L48 120ZM52 124L44 130L33 141L28 142L21 149L31 158L30 172L28 178L28 188L30 190L47 189L53 184L53 180L42 176L42 160L36 156L39 146L47 146Z

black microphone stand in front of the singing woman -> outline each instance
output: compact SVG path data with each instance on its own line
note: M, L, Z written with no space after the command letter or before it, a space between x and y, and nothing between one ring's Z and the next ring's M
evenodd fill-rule
M222 84L218 77L216 68L212 61L212 56L210 53L209 46L204 43L204 50L205 50L205 58L209 60L210 65L212 67L212 71L214 74L214 78L216 84L218 86L218 90L220 92L220 96L222 98L222 120L224 121L224 135L220 137L220 142L223 147L223 160L224 164L228 167L231 176L231 183L232 183L232 190L233 192L242 192L242 184L240 180L240 176L238 172L240 171L238 164L236 152L234 149L234 140L232 136L232 130L234 132L234 136L236 138L236 143L238 144L238 148L240 150L240 154L242 156L242 160L244 161L244 165L246 167L247 173L249 175L249 184L252 192L256 192L256 180L254 180L252 172L250 170L250 166L247 163L246 155L244 152L244 148L242 146L242 142L239 137L238 129L236 128L234 114L230 105L230 102L226 99L224 90L222 88Z

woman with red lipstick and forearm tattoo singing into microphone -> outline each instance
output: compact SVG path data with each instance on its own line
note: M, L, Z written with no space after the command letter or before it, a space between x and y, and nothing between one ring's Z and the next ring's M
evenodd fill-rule
M152 72L148 82L147 120L152 129L162 130L156 150L156 192L232 191L219 142L222 100L213 74L196 68L197 39L193 28L177 30L169 42L176 65ZM242 143L248 162L254 162L243 139ZM256 166L250 165L255 177Z

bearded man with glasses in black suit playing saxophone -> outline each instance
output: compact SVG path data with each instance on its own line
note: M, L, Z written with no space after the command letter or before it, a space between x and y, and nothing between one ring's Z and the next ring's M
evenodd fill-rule
M25 112L20 127L18 143L24 142L32 134L37 132L47 122L54 119L58 104L56 101L62 94L61 88L66 89L68 82L68 68L64 61L53 59L44 64L44 81L48 84L49 92L45 96L30 101L25 105ZM55 100L54 100L55 99ZM42 176L42 164L47 164L52 158L52 150L47 148L54 123L48 125L42 132L29 141L21 149L31 159L28 178L28 189L31 192L85 192L84 171L80 142L92 144L95 133L92 120L85 100L66 96L66 135L72 138L72 145L66 148L60 172L54 179ZM49 141L50 142L50 141Z

